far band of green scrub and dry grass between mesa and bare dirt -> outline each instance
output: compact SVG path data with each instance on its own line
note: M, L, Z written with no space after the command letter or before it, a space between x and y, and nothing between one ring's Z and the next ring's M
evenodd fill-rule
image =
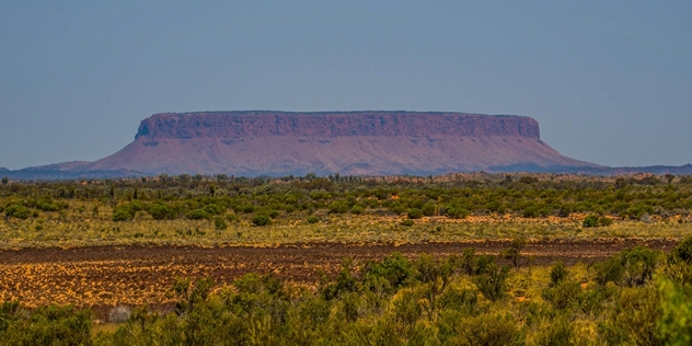
M0 185L0 246L680 238L690 210L689 176L13 181Z

